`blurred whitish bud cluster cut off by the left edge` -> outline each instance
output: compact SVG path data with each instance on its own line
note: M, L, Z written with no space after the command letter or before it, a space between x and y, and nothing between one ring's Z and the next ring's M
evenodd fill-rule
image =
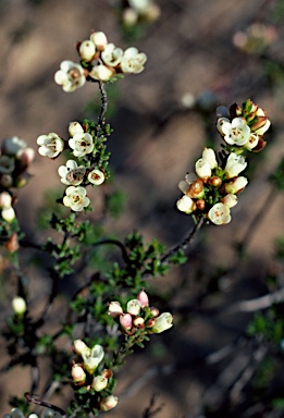
M25 186L30 177L27 169L35 151L16 136L3 139L0 148L0 210L7 222L15 219L12 188Z

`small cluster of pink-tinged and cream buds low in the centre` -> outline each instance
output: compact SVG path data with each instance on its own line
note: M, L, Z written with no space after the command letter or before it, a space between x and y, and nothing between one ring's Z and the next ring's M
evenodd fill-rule
M173 317L169 312L159 315L156 307L149 307L145 291L140 291L136 299L127 303L124 310L119 302L111 302L108 314L120 324L126 335L134 335L137 330L144 334L157 334L173 325Z

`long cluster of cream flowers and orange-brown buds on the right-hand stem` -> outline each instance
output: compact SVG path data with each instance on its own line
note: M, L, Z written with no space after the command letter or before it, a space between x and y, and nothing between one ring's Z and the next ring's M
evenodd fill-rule
M206 148L196 161L196 173L186 174L178 183L184 196L176 206L182 212L205 216L221 225L231 221L231 208L248 183L239 175L247 167L242 153L264 148L263 134L270 127L270 120L251 100L246 100L243 107L233 104L230 110L219 107L217 113L217 128L225 143L220 162L214 150Z

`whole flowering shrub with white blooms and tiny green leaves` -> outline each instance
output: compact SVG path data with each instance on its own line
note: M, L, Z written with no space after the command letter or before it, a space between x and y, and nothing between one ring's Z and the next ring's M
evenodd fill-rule
M145 16L153 2L128 1L126 5L126 9ZM187 173L178 183L183 196L176 202L177 209L190 214L196 225L175 248L166 250L157 239L145 245L138 233L129 234L124 242L101 239L95 226L88 220L79 221L78 216L84 218L91 209L87 188L96 189L110 179L107 142L111 127L106 123L108 98L104 83L113 82L122 74L139 74L147 57L135 47L126 50L115 47L108 42L102 32L91 33L89 39L77 45L77 51L79 63L63 61L54 81L66 93L96 83L101 94L98 122L71 122L66 138L53 132L37 138L41 157L54 160L67 155L65 162L58 168L59 184L61 182L65 189L57 201L67 214L61 217L53 212L50 219L50 228L60 238L50 237L34 245L25 242L14 209L15 190L29 179L27 169L34 151L23 140L12 137L3 140L0 156L1 238L12 256L11 262L18 280L18 294L12 300L13 315L8 318L4 332L10 349L13 346L11 364L37 367L39 357L49 358L54 390L62 390L67 383L73 390L73 399L66 410L44 401L44 396L41 399L34 394L39 386L36 377L30 392L26 392L23 398L13 399L14 407L4 418L37 418L36 414L29 414L33 404L45 407L42 418L98 415L116 407L116 371L125 357L135 346L144 347L152 334L171 330L174 324L171 312L160 314L158 304L150 306L147 279L164 275L173 265L185 262L184 250L205 223L221 225L231 221L231 209L248 185L243 175L248 167L248 156L264 148L264 134L271 123L264 110L249 99L243 106L217 109L222 151L205 148L195 163L195 172ZM28 286L20 273L17 250L21 244L45 251L49 257L52 287L38 320L32 318ZM107 267L89 273L87 268L94 248L103 245L118 247L123 262L108 265L109 260L106 260ZM60 280L72 274L79 276L82 271L86 272L84 276L88 275L88 280L78 285L60 330L52 335L45 334L42 327L59 294ZM64 348L60 344L63 337L67 340Z

